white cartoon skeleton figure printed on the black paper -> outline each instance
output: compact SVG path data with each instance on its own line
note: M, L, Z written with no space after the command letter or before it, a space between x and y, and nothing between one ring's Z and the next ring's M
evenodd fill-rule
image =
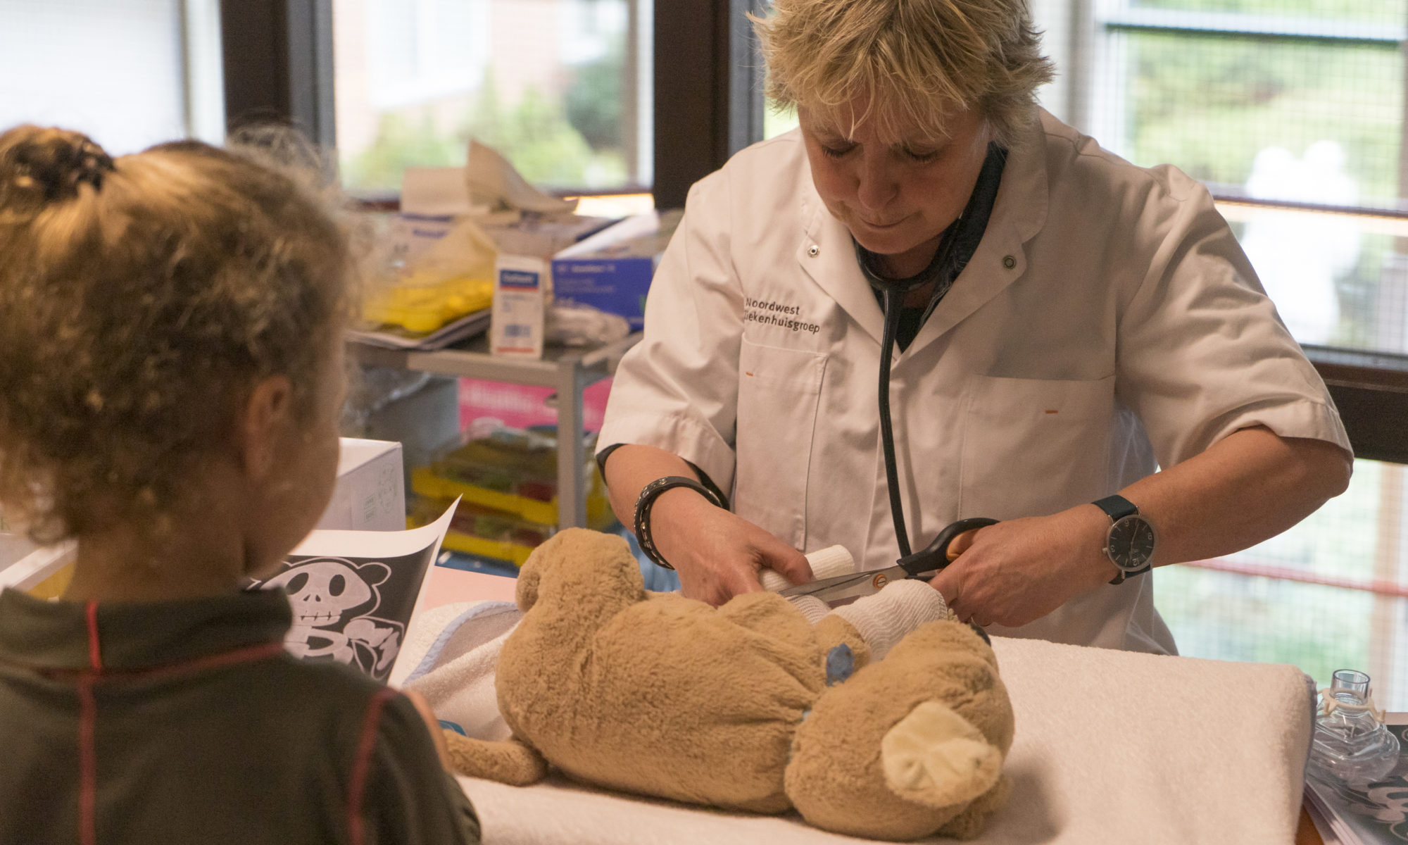
M284 645L293 655L331 658L379 675L401 648L401 625L370 615L382 603L376 587L390 575L390 566L377 561L356 565L345 558L314 558L290 565L263 586L283 587L289 594L293 627Z

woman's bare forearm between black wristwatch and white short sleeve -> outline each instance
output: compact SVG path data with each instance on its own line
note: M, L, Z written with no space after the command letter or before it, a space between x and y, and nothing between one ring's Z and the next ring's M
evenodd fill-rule
M1159 532L1155 565L1242 551L1345 492L1350 456L1333 444L1235 431L1201 455L1135 482L1122 494Z

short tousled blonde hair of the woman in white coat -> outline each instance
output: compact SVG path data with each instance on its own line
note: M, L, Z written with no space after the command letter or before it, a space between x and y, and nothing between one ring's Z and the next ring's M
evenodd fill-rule
M1025 0L776 0L753 18L767 94L845 128L862 120L898 137L949 135L955 108L976 108L1011 146L1052 79ZM865 114L849 103L863 97Z

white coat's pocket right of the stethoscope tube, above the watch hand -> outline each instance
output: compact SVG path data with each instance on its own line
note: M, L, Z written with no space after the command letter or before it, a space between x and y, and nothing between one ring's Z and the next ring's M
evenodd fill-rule
M1114 376L973 376L967 394L960 517L1039 517L1108 493Z

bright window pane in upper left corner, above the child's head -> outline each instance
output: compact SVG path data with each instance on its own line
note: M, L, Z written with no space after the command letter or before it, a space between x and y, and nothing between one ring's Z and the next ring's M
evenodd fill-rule
M0 128L58 125L113 155L224 137L218 0L0 0Z

